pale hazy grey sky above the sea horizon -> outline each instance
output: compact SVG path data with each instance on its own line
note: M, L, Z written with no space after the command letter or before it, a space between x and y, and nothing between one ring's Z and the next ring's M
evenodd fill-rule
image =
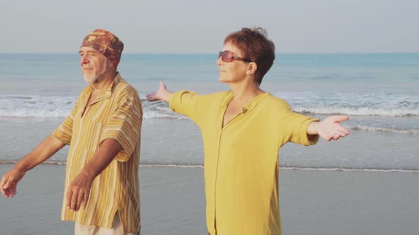
M89 32L124 53L217 53L243 27L277 53L419 52L418 0L4 0L1 52L77 53Z

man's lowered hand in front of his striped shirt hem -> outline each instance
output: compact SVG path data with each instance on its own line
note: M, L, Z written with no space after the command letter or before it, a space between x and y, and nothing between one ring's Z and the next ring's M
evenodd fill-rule
M67 188L67 208L75 212L87 206L94 177L82 171Z

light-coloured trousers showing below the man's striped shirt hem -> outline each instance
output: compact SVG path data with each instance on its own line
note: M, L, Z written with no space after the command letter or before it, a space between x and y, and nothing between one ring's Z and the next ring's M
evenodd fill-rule
M112 228L103 228L96 226L82 225L79 222L75 222L74 228L75 235L140 235L140 232L136 233L124 233L124 227L122 227L121 220L119 219L119 214L116 213L114 217L114 222L112 222Z

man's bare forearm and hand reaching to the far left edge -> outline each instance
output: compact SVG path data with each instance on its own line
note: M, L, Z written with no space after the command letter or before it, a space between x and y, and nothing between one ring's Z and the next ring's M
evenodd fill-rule
M16 164L8 173L1 178L0 190L4 197L13 197L16 195L18 182L25 176L26 171L43 163L50 156L53 156L58 150L65 146L65 143L50 135L43 142L27 154Z

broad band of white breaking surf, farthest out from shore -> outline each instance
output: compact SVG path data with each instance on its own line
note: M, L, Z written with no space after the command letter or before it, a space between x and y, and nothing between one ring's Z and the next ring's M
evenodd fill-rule
M364 98L347 98L348 94L278 93L285 96L295 112L314 115L345 114L352 116L419 116L418 96L383 98L375 95ZM343 97L342 97L343 96ZM356 97L356 96L355 96ZM67 117L74 107L76 96L0 96L0 117ZM350 101L348 103L348 101ZM148 102L141 98L143 117L187 119L170 110L163 101Z

